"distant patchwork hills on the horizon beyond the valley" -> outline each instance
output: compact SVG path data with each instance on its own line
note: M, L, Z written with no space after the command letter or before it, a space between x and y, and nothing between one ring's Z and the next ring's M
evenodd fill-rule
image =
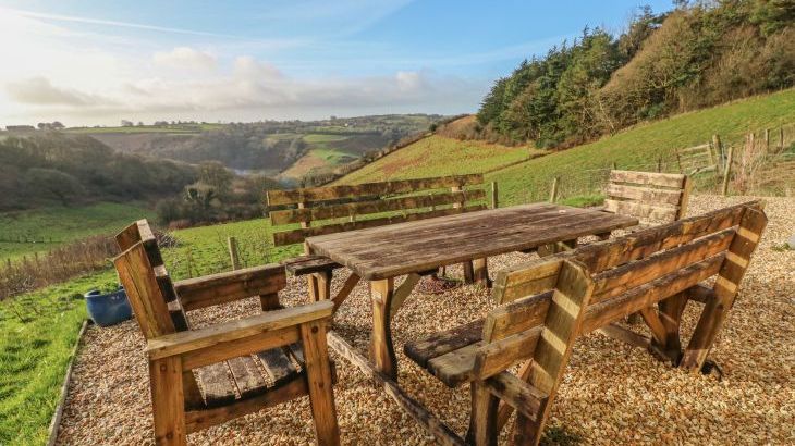
M427 131L440 115L334 117L233 124L178 123L70 128L129 153L188 163L219 161L238 173L262 173L290 183Z

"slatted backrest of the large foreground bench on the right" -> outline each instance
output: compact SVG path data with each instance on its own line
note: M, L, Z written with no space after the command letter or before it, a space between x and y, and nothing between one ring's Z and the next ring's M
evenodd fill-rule
M543 376L555 376L578 333L714 275L718 298L734 296L766 224L762 203L753 201L501 271L493 287L501 306L486 319L476 373L533 357L534 367L549 368L533 384L548 392Z

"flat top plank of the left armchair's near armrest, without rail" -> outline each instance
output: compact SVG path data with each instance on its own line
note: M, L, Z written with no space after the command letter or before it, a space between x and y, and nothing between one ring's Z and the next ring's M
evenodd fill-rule
M319 301L269 311L205 329L173 333L150 339L146 351L150 359L157 359L203 349L220 348L223 344L244 340L257 335L265 336L268 332L273 334L273 340L277 340L276 338L280 335L291 337L290 331L286 329L315 319L329 318L332 314L333 307L331 301ZM280 330L285 330L285 332L280 333ZM264 344L267 344L267 342L264 342ZM241 355L244 354L241 352Z

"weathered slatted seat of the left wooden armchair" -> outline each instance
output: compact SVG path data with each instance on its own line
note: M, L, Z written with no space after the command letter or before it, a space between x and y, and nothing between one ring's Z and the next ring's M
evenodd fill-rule
M229 406L304 379L299 343L230 359L194 370L207 408ZM331 362L332 381L337 381Z

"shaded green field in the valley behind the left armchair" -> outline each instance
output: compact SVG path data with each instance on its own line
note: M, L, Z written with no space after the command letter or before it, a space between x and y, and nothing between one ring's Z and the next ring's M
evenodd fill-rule
M114 233L155 212L138 205L100 202L80 208L45 208L0 214L0 261L47 252L90 235ZM23 237L29 241L10 243ZM41 243L45 240L45 243ZM52 240L50 243L50 240ZM35 243L34 243L35 241Z

